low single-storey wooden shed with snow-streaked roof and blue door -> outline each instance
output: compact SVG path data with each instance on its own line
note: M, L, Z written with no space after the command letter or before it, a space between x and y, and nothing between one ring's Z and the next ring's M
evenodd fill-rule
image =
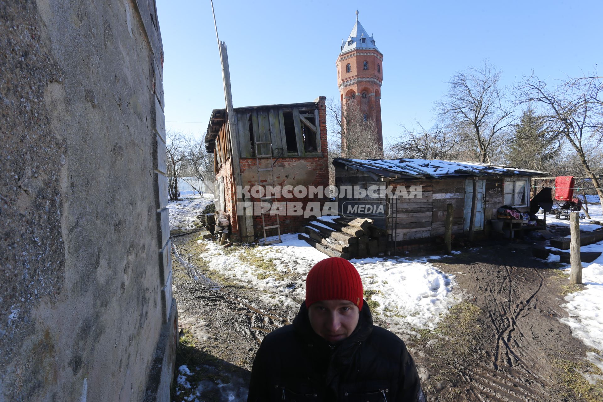
M453 205L452 233L469 231L473 188L476 188L475 231L498 219L503 206L529 211L530 178L546 172L447 160L356 160L337 158L335 184L339 213L374 219L387 232L390 249L416 249L444 234L446 209ZM371 187L372 186L372 187ZM345 187L345 190L344 190ZM350 187L357 189L350 192ZM379 188L379 196L374 188ZM400 187L400 188L399 188ZM373 189L365 195L362 189ZM382 203L382 213L358 213L354 206Z

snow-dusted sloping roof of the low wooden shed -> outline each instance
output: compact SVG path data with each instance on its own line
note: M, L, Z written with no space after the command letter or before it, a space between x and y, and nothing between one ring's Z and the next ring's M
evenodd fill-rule
M344 159L335 158L333 165L367 172L375 178L442 178L451 176L540 176L547 172L512 168L485 163L440 159Z

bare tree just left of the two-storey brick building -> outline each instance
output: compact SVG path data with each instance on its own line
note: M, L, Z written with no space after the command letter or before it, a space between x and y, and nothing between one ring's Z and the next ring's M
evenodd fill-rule
M187 180L186 183L203 195L203 188L215 195L213 183L216 180L216 173L213 165L213 152L207 153L204 142L205 134L201 137L189 136L184 139L184 153L186 163L186 177L194 177L197 180ZM205 187L203 187L203 183Z

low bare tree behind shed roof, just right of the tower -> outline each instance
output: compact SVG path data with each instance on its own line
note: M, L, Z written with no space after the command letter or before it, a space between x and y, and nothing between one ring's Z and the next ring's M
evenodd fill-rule
M437 122L427 130L409 130L402 126L399 140L390 146L388 154L394 158L455 159L458 156L459 136L444 122Z

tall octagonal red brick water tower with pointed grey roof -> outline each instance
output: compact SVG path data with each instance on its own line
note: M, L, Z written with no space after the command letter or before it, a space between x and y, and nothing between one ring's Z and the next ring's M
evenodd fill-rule
M381 128L381 83L383 82L383 54L377 49L373 35L369 36L358 20L347 40L341 43L337 59L337 83L341 94L342 113L347 102L356 102L365 120L376 123L376 140L383 154ZM346 139L341 137L341 149L346 149ZM344 157L346 155L343 155Z

